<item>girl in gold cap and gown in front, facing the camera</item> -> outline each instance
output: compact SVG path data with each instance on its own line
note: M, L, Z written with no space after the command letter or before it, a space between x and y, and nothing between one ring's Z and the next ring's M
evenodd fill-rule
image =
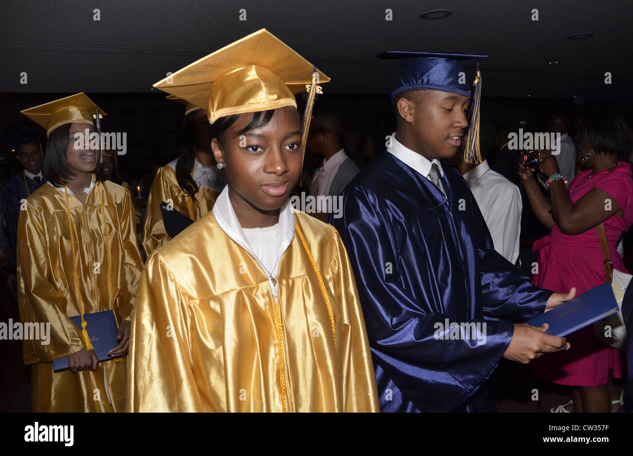
M318 82L265 29L154 87L206 106L227 186L147 260L128 409L373 412L373 366L348 255L292 208ZM318 79L317 79L318 78ZM309 89L303 136L295 94Z

